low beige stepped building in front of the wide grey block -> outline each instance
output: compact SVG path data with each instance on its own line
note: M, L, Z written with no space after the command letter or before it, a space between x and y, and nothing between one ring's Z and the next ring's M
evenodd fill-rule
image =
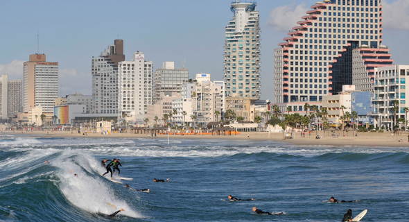
M173 108L172 108L172 103L174 99L180 99L182 96L179 93L175 92L162 92L159 101L157 101L153 105L148 105L148 114L146 114L146 118L149 119L150 124L155 124L155 117L158 118L157 123L158 124L164 124L164 121L162 118L164 117L164 114L170 114L173 113ZM167 122L169 123L170 121L173 121L173 118L170 119L168 118ZM143 124L143 122L138 122L139 124Z

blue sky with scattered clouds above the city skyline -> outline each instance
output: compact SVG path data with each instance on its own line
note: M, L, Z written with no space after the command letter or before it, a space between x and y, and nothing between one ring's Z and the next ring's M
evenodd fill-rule
M241 0L245 1L245 0ZM249 1L249 0L247 0ZM317 0L259 0L261 99L273 99L274 49ZM154 69L183 62L189 77L223 80L230 0L0 1L0 75L22 79L23 62L37 53L59 62L60 96L92 94L91 59L119 38L125 60L142 51ZM383 44L395 64L409 65L409 0L383 0Z

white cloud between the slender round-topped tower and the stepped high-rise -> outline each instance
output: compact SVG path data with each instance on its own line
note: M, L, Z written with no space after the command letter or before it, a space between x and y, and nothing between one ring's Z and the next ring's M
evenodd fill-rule
M276 31L289 31L297 22L301 21L301 17L306 15L306 11L311 8L306 8L305 3L295 6L295 3L286 6L279 6L270 11L267 25L274 28Z

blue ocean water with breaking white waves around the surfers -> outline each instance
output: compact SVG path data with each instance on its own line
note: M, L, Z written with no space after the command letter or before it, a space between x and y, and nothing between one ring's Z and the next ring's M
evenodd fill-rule
M114 157L134 178L123 185L150 193L99 176ZM348 209L367 209L361 221L409 221L408 167L409 148L3 135L0 221L341 221ZM325 203L331 196L359 201ZM125 212L107 218L112 205Z

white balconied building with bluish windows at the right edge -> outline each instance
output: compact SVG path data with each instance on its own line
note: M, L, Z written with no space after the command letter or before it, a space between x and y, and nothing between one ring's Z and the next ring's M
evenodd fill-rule
M374 69L372 117L375 119L376 126L392 128L396 125L394 119L396 101L398 103L397 119L405 119L403 109L408 106L406 104L409 104L409 99L406 98L406 85L409 89L409 65L390 65Z

